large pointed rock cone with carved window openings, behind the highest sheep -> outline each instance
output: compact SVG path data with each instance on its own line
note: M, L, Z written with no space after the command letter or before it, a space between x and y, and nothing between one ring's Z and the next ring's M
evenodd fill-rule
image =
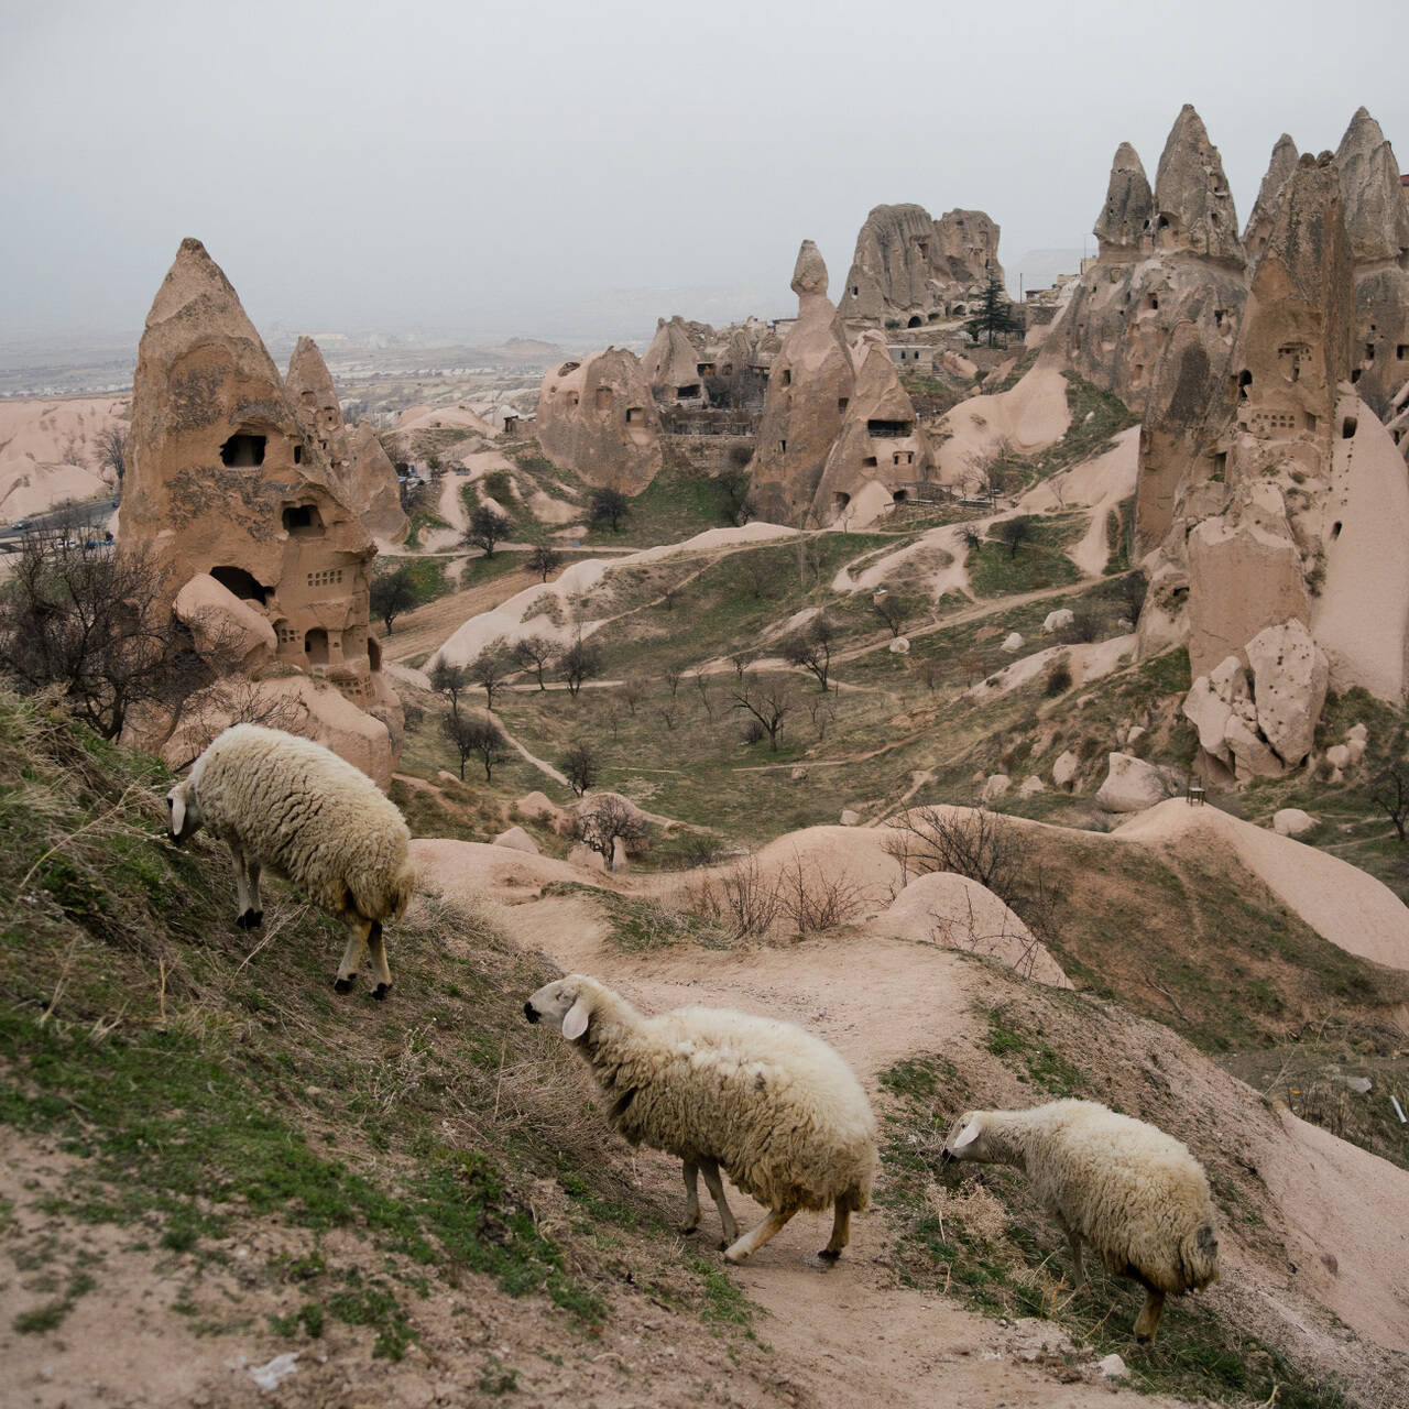
M118 541L158 555L173 602L214 579L269 623L276 664L399 717L368 630L376 545L199 240L182 241L138 347Z

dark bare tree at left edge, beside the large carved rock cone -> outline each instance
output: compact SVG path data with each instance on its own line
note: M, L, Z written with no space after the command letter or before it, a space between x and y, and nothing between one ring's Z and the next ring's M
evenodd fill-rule
M175 712L213 672L176 621L145 548L92 551L61 517L27 533L0 593L0 671L21 689L58 685L94 733L117 738L132 709Z

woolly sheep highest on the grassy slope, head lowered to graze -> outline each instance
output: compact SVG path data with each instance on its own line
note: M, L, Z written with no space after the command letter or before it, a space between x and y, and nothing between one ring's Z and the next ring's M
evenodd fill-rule
M378 976L372 996L386 998L382 923L406 910L416 871L402 813L366 774L313 740L235 724L170 789L166 807L176 845L204 826L230 847L240 929L263 921L259 872L268 868L349 927L334 988L351 991L368 947Z

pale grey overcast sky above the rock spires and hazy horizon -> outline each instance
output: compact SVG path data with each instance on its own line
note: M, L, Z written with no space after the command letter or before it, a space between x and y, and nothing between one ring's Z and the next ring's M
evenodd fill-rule
M183 235L265 328L647 337L840 292L882 201L1079 249L1181 104L1409 142L1403 0L0 0L0 341L137 331ZM1093 241L1092 241L1093 252Z

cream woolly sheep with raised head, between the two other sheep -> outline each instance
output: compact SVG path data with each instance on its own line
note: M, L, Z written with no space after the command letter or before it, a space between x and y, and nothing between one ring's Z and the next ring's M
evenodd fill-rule
M826 1043L792 1023L723 1007L643 1017L582 974L540 988L524 1016L561 1031L585 1058L620 1134L681 1158L682 1231L699 1227L703 1174L726 1261L743 1262L799 1209L828 1205L831 1239L819 1264L841 1255L851 1215L871 1200L876 1126L861 1084ZM743 1237L720 1169L769 1210Z

